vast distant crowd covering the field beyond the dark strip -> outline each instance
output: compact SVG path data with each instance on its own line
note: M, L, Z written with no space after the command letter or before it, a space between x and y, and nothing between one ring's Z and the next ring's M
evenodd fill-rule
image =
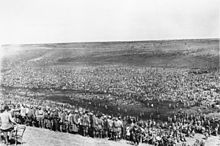
M186 69L108 66L31 67L29 63L3 75L5 87L74 90L106 94L128 101L146 100L181 102L185 107L216 102L219 74L195 74Z

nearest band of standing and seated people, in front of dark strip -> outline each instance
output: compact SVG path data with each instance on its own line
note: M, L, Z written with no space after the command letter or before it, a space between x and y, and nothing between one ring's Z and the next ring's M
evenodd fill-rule
M10 113L18 124L97 138L126 139L137 145L140 142L153 145L186 145L186 137L193 137L195 133L204 134L206 139L219 133L219 121L207 118L201 113L180 112L168 117L166 121L143 121L131 116L93 113L64 103L41 103L31 98L2 100L2 110L5 105L10 107ZM199 145L204 144L204 141L199 142Z

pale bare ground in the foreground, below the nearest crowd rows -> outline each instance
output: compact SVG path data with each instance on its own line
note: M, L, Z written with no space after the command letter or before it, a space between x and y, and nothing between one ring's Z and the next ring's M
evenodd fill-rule
M187 138L187 144L193 145L196 139L202 140L201 134L196 134L194 138ZM95 139L83 137L78 134L54 132L47 129L27 127L23 137L23 146L132 146L128 141L110 141L107 139ZM220 136L211 136L205 141L205 146L220 145ZM140 144L139 146L150 146Z

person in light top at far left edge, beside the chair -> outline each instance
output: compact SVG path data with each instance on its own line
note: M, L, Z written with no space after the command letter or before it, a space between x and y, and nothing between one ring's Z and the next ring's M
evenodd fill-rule
M9 140L11 139L12 136L12 131L14 130L14 125L16 125L16 122L12 118L12 115L10 113L10 108L8 107L8 105L4 106L3 112L0 114L0 121L1 121L0 130L4 134L6 145L8 145ZM10 133L9 139L8 139L8 133Z

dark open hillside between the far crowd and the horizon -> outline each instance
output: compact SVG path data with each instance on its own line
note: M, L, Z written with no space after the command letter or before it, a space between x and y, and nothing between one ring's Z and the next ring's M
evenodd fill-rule
M174 68L219 67L219 40L212 39L9 45L3 47L6 50L22 50L18 51L19 58L16 58L16 62L17 59L23 59L23 61L37 63L36 66L122 64Z

